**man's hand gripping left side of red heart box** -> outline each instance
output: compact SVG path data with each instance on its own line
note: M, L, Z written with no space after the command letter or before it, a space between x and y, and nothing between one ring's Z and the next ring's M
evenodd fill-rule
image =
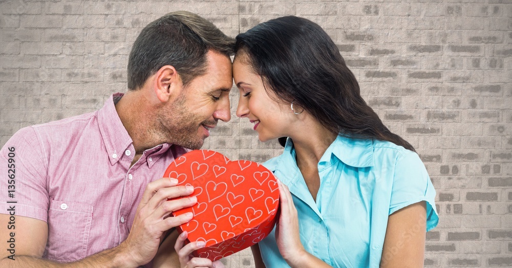
M137 208L137 214L130 235L120 246L126 250L133 265L150 262L156 255L165 232L188 222L192 213L169 216L173 211L190 207L197 203L197 197L179 198L194 192L191 186L176 186L177 179L161 178L147 184L146 190Z

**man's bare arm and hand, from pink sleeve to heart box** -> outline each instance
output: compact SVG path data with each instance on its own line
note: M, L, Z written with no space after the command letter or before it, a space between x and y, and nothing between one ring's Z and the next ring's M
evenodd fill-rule
M41 259L44 253L48 225L46 222L27 217L16 217L16 260L7 259L7 254L0 255L0 267L137 267L150 262L158 250L165 232L189 221L192 215L178 217L169 216L171 212L190 207L197 202L196 197L167 199L187 196L194 189L176 186L176 179L161 178L147 184L142 200L137 207L132 230L128 238L119 246L105 250L87 258L69 262L56 263ZM9 215L1 214L0 219L6 222ZM23 231L22 231L23 230ZM0 238L7 238L7 229L0 229Z

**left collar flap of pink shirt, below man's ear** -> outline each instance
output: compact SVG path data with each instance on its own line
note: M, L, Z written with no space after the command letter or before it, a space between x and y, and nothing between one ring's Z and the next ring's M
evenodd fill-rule
M115 103L117 103L123 95L123 93L112 94L112 96L106 100L103 108L98 111L98 125L101 137L103 138L103 143L106 152L109 154L110 163L112 165L121 159L126 148L133 143L115 107Z

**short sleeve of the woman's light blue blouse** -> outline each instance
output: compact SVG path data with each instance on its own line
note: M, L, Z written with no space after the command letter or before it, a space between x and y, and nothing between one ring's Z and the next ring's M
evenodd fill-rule
M435 198L434 185L419 156L409 150L403 151L398 155L395 164L389 215L408 205L426 201L426 231L428 232L439 222Z

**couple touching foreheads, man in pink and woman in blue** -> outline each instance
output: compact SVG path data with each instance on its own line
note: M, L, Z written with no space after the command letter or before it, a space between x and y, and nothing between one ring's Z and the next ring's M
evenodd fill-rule
M2 149L0 174L15 169L15 182L0 182L0 239L15 246L0 266L222 267L190 257L203 245L173 231L192 215L168 215L197 200L167 199L193 189L158 176L230 120L233 78L237 116L284 146L264 163L281 208L252 247L257 267L422 266L438 221L429 175L318 25L281 17L233 41L196 14L169 13L142 30L127 74L129 90L102 109L19 130Z

